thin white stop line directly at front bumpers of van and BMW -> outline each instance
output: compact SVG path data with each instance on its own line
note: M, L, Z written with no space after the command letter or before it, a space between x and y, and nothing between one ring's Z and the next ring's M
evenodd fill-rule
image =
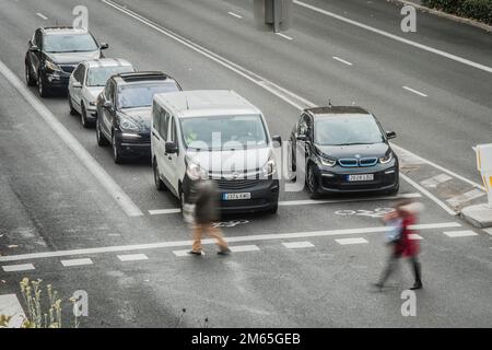
M347 203L347 202L361 202L361 201L378 201L378 200L398 200L405 198L422 198L422 195L419 192L413 194L401 194L398 196L384 196L384 197L360 197L360 198L350 198L350 199L301 199L301 200L281 200L279 201L279 206L281 207L293 207L293 206L312 206L312 205L336 205L336 203ZM174 209L156 209L149 210L151 215L162 215L162 214L175 214L180 213L181 210L179 208Z

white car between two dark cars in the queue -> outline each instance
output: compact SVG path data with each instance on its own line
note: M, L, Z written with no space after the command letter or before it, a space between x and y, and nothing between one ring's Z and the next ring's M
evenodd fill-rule
M82 61L70 75L68 100L71 115L80 115L84 128L97 118L96 100L113 74L134 72L125 59L102 58Z

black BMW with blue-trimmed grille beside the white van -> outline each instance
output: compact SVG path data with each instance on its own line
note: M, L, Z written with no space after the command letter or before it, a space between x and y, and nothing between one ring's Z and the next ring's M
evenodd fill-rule
M399 164L388 142L395 137L361 107L305 109L289 142L291 171L298 167L296 154L304 152L304 174L312 198L340 192L396 195Z

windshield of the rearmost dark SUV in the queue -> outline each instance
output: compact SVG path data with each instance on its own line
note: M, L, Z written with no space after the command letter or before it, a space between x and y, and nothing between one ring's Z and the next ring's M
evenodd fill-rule
M46 35L43 48L46 52L85 52L97 50L91 34Z

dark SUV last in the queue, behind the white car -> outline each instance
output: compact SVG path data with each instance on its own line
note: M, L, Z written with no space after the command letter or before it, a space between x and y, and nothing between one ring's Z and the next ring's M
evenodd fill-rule
M70 74L83 60L103 58L107 44L98 45L84 28L68 26L37 28L25 55L25 80L42 97L54 90L67 91Z

